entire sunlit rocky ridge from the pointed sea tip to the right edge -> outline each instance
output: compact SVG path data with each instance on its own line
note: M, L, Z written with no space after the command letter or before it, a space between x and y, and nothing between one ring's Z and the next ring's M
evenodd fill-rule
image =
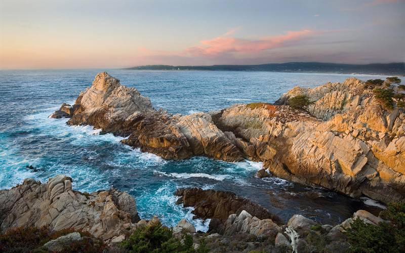
M297 95L315 102L307 111L293 109L288 101ZM296 87L276 105L237 104L182 116L156 111L136 89L103 72L73 106L63 104L51 116L129 135L124 143L165 159L246 158L263 161L274 176L352 197L405 197L405 113L395 105L385 109L356 78Z

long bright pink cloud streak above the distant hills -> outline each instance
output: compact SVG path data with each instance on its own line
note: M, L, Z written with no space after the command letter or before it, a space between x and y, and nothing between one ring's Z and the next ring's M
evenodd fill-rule
M257 53L264 50L287 47L290 43L314 34L311 30L288 31L286 34L266 37L262 39L240 39L229 37L232 33L222 36L201 40L199 46L185 49L185 53L191 56L218 56L228 53Z

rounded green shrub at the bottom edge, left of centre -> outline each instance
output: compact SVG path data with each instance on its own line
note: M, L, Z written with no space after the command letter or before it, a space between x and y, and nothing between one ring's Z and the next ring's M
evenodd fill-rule
M193 239L184 236L182 243L173 237L172 229L161 225L160 221L150 222L121 243L121 247L129 252L194 252Z

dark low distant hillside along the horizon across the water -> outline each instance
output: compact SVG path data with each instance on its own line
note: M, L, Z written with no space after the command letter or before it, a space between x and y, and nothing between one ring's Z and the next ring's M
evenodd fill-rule
M146 65L127 69L135 70L228 70L228 71L271 71L271 72L315 72L342 74L405 75L405 63L340 64L324 62L288 62L259 65L211 65L171 66Z

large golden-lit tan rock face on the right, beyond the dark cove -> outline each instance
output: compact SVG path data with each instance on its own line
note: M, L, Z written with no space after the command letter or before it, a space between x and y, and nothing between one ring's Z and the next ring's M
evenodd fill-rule
M308 108L311 115L282 106L269 112L236 105L222 111L218 125L253 145L256 154L249 156L264 161L275 176L353 197L384 202L405 197L402 110L385 110L355 78L294 88L277 103L297 95L316 101Z

